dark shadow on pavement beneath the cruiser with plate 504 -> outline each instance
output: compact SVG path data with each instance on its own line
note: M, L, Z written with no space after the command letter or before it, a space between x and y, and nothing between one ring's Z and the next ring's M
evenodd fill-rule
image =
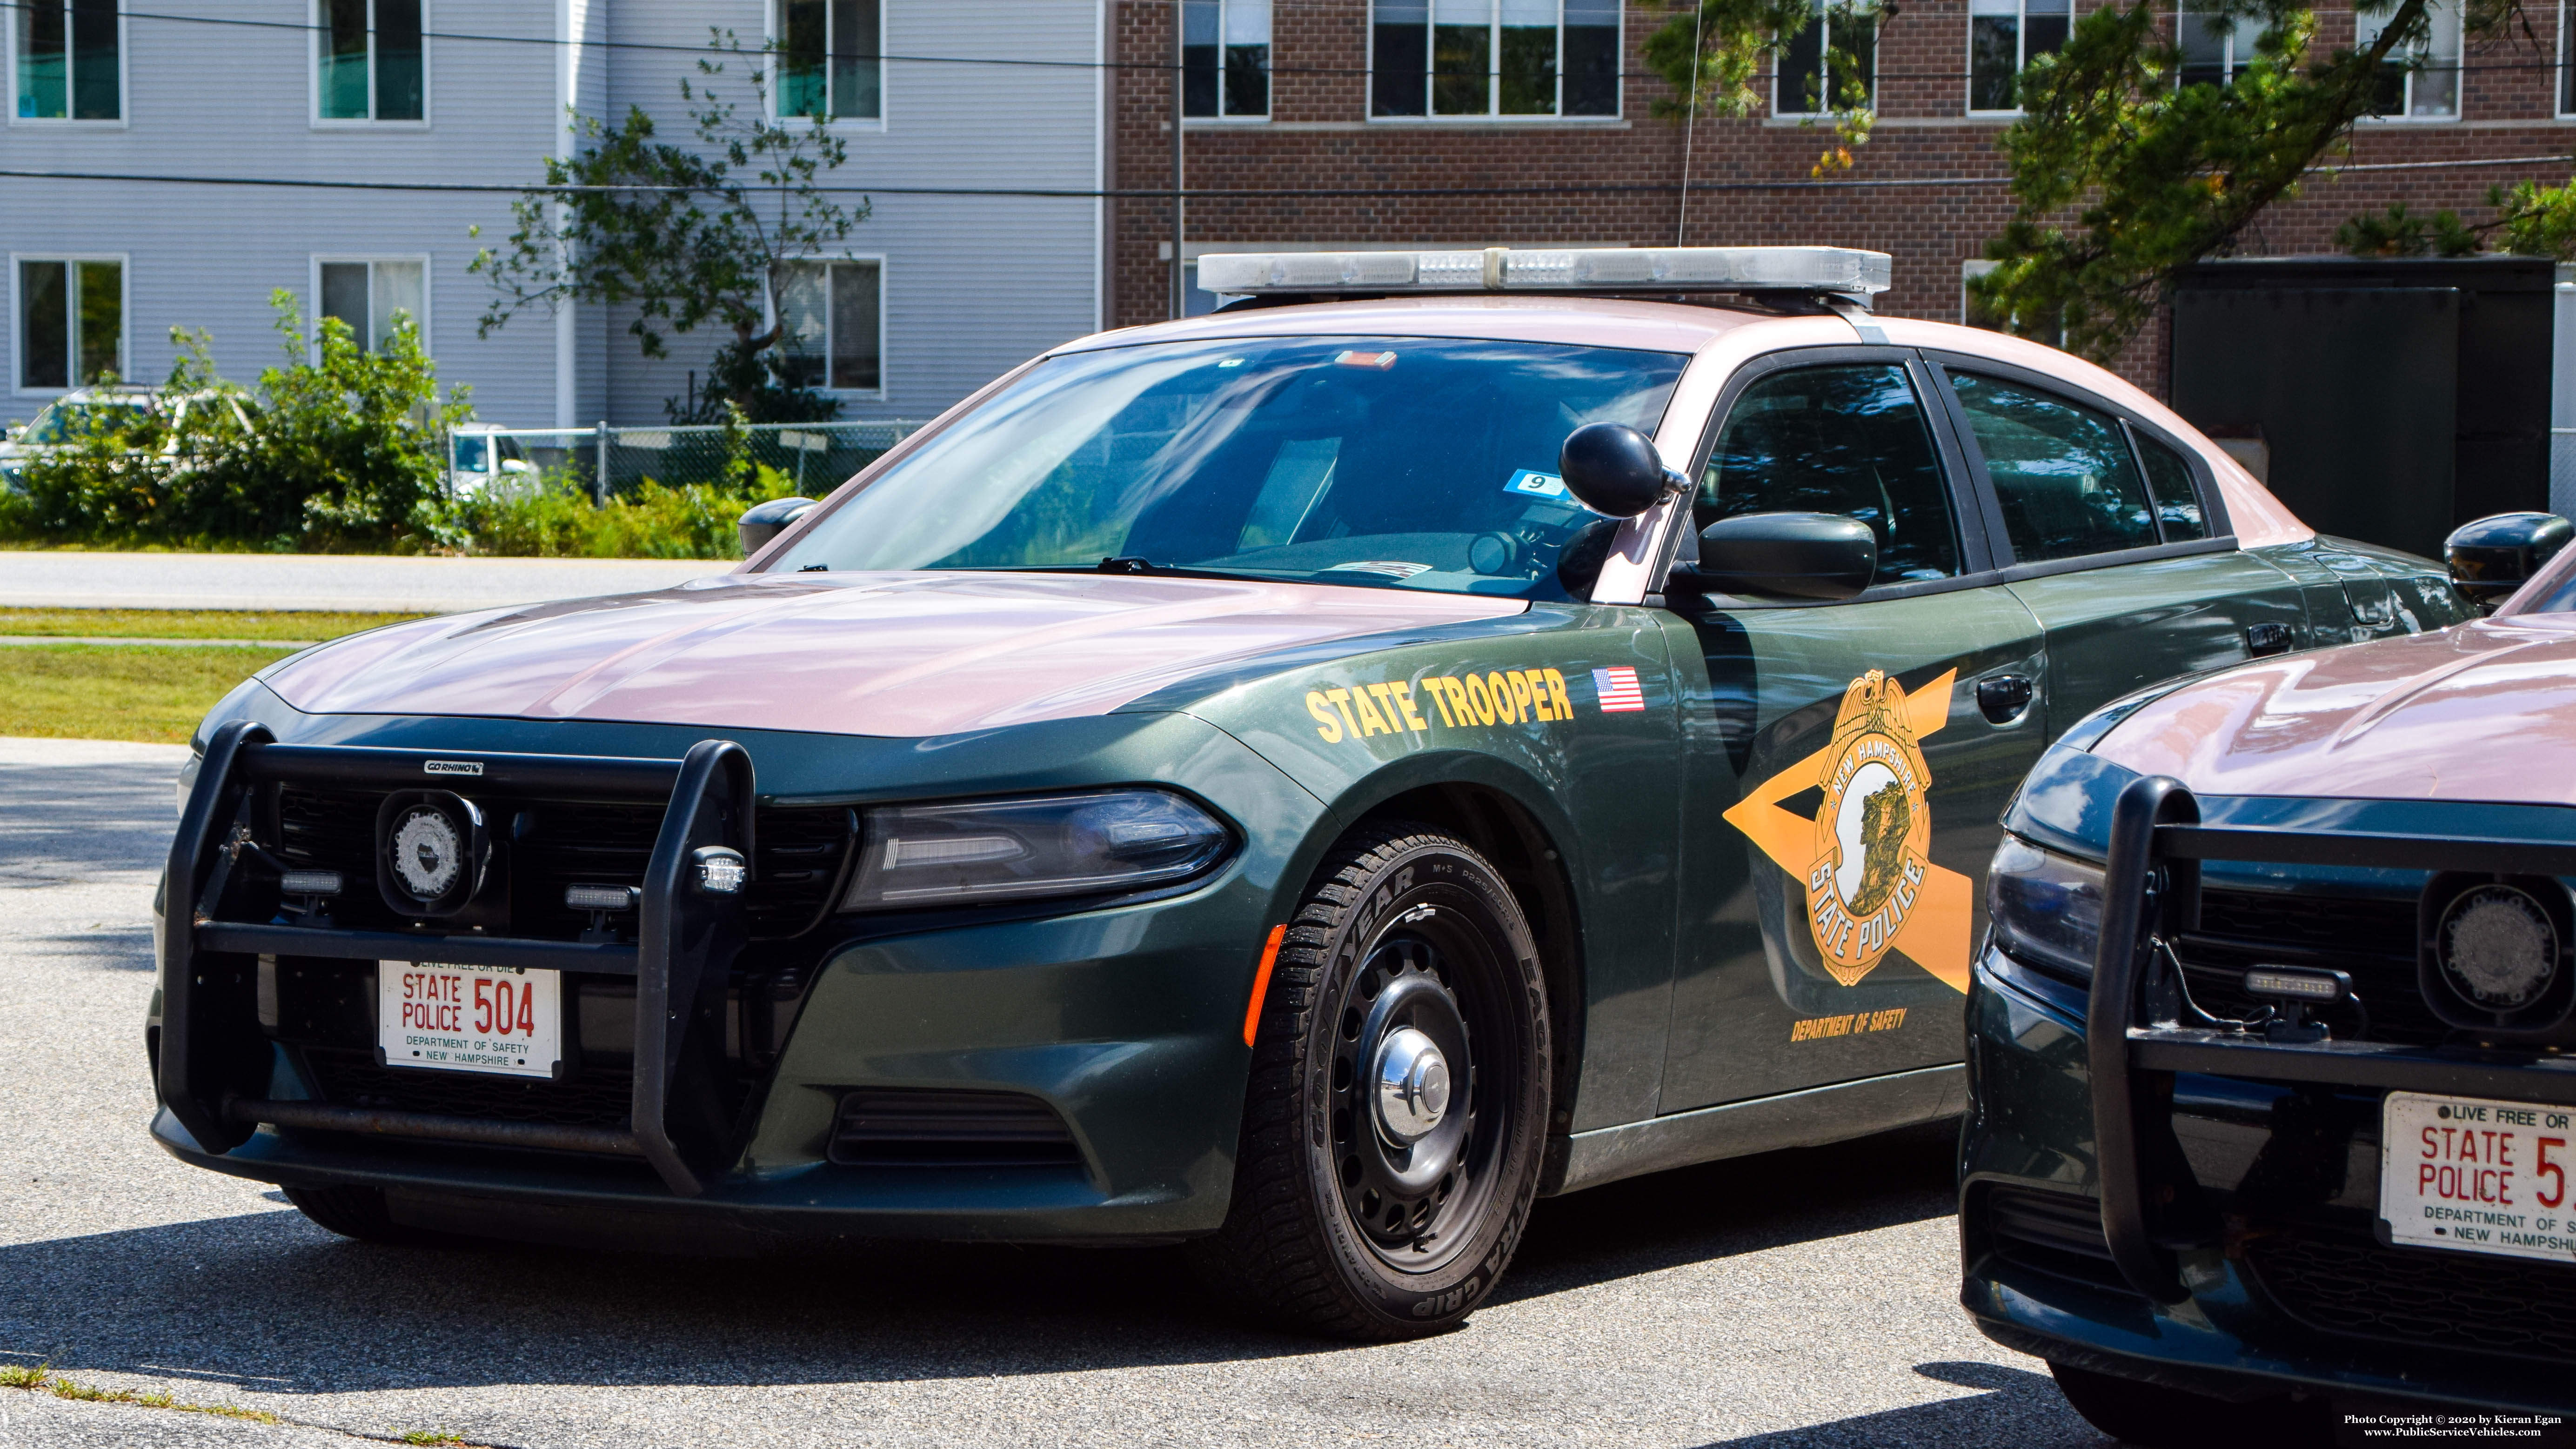
M1502 1300L1937 1217L1947 1153L1932 1127L1540 1202ZM294 1212L0 1248L0 1361L268 1392L889 1382L1340 1349L1216 1318L1170 1248L386 1248Z

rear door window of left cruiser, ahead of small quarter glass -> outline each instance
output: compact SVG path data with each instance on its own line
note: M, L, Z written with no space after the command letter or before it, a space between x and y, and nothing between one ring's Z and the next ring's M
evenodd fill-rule
M2017 561L2081 558L2159 540L2146 481L2115 420L1976 373L1950 373L1950 386L1986 453L1986 476L2004 504Z

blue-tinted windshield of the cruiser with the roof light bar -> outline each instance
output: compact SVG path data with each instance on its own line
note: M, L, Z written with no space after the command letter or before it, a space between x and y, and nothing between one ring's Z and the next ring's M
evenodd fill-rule
M773 569L1095 569L1566 597L1602 522L1556 481L1587 422L1646 432L1687 358L1435 337L1048 358Z

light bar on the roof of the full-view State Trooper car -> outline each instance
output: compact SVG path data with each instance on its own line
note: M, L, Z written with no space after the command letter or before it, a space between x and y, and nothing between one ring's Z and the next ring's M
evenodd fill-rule
M1404 291L1888 291L1886 252L1855 247L1486 247L1481 252L1208 252L1198 286L1231 296Z

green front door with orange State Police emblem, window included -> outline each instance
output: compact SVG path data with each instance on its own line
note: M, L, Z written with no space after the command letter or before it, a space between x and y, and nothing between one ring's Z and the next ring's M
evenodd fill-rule
M1687 800L1662 1112L1960 1055L1976 883L2043 744L2043 661L1963 528L1978 515L1929 396L1919 360L1837 350L1721 404L1695 528L1860 517L1878 582L1837 605L1713 597L1667 625Z

